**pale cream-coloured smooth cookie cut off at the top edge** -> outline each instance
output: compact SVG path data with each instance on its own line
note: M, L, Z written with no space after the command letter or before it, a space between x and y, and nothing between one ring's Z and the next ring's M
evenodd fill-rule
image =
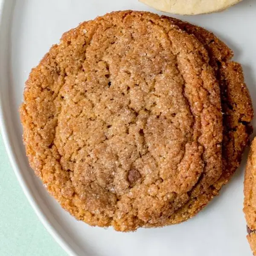
M140 0L140 2L162 12L197 15L223 11L241 0Z

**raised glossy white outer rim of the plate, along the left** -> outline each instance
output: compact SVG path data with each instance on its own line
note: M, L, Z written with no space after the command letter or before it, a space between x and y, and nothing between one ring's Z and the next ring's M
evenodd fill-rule
M11 10L14 9L16 0L0 0L0 42L10 41L10 37L8 36L5 40L2 38L2 34L4 32L7 32L9 35L9 30L11 29L11 25L4 27L4 17L3 13L6 12L6 9L9 8ZM11 11L12 12L12 11ZM13 16L10 15L10 19L12 21ZM12 23L12 22L11 22ZM9 44L10 45L10 44ZM7 51L4 52L4 49L6 47L5 44L0 44L0 132L3 138L3 144L6 149L7 156L9 158L9 162L11 163L11 167L13 172L15 173L15 176L20 184L20 187L23 190L23 193L26 196L26 199L29 201L30 206L32 207L33 211L37 215L39 221L44 225L45 229L48 231L48 233L52 236L52 238L61 246L61 248L69 255L69 256L79 256L74 250L70 244L68 244L65 239L61 236L60 232L53 227L51 222L49 221L49 218L47 215L41 210L41 207L39 206L37 199L32 191L32 189L29 188L26 179L24 178L23 173L20 171L20 167L18 164L17 156L15 155L15 152L12 148L12 139L11 139L11 134L8 131L8 122L7 119L5 118L6 116L6 111L4 108L4 84L8 84L8 79L6 82L3 82L3 59L8 60L8 55L9 55L9 47L7 47ZM4 53L3 53L4 52ZM7 70L9 70L9 63L6 65ZM5 75L6 76L6 75Z

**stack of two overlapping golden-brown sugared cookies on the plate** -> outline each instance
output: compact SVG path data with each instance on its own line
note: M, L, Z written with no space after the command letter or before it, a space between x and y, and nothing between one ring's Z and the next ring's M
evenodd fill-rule
M31 167L92 226L186 221L228 182L251 133L251 100L232 57L205 29L148 12L81 23L26 82Z

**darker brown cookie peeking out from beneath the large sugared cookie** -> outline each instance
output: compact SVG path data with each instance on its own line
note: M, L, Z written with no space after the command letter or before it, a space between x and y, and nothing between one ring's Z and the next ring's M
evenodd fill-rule
M233 52L214 34L204 28L166 17L173 24L190 35L194 35L207 49L210 65L215 70L221 89L221 106L223 113L223 142L221 177L207 191L196 198L191 198L187 204L190 212L196 212L204 207L214 195L218 195L221 187L226 184L240 165L244 149L249 143L252 133L250 122L253 119L253 106L250 94L244 83L241 64L231 61ZM203 198L203 200L202 200ZM188 212L184 212L190 218ZM184 216L184 215L183 215ZM180 219L181 220L181 219Z

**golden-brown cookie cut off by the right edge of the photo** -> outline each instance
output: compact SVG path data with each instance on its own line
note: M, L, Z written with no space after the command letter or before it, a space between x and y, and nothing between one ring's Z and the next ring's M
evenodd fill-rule
M256 255L256 138L250 148L244 177L244 214L247 221L247 239Z

